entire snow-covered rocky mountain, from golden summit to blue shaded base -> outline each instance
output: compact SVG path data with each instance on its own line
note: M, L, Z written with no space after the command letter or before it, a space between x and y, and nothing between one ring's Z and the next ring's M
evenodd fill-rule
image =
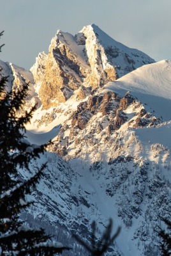
M108 46L118 50L109 54ZM13 90L31 81L25 109L37 109L27 140L54 140L30 163L33 172L48 167L33 191L38 203L22 218L59 230L75 256L87 253L72 246L70 232L89 240L93 220L100 236L112 218L114 230L122 229L108 256L160 255L154 228L158 216L170 218L171 206L171 61L154 63L91 25L76 36L58 31L31 72L0 64Z

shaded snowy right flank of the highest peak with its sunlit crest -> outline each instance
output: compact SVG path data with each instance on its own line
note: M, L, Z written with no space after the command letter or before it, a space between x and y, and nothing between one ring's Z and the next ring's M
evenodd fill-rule
M141 67L145 63L154 62L144 52L138 51L137 49L130 49L126 45L115 41L95 24L85 26L80 33L83 33L87 37L87 47L88 40L93 40L90 44L91 47L93 44L98 45L103 65L115 65L117 76L119 77L128 74L128 72L135 70L135 68Z

